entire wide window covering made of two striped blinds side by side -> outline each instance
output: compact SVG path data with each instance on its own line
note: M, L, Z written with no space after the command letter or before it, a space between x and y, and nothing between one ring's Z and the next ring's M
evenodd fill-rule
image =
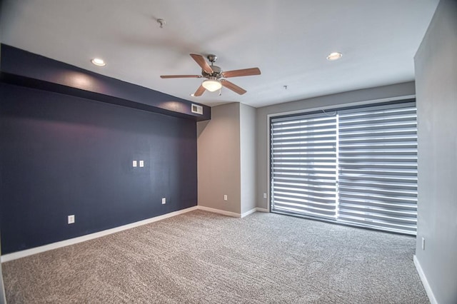
M415 103L330 113L271 118L271 210L416 235Z

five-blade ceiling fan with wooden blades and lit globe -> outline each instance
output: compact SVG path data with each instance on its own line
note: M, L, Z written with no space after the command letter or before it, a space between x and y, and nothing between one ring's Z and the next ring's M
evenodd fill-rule
M229 88L231 91L243 95L246 93L246 90L236 86L236 84L226 80L221 79L230 78L230 77L240 77L240 76L252 76L252 75L260 75L260 70L258 68L251 68L251 69L241 69L241 70L233 70L233 71L222 71L219 66L214 66L214 61L216 61L217 56L210 54L206 58L208 58L209 62L211 62L211 66L206 62L204 56L199 54L191 54L191 57L196 61L197 64L201 67L201 75L162 75L161 78L207 78L205 81L201 83L197 91L195 91L194 96L201 96L205 90L210 92L214 92L219 90L222 86Z

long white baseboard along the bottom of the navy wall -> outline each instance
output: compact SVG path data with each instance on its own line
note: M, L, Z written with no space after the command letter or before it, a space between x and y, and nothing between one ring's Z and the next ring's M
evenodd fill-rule
M43 245L43 246L39 246L39 247L27 249L27 250L17 251L15 253L9 253L6 255L1 255L0 261L1 261L1 263L4 263L4 262L8 262L9 260L16 260L18 258L24 258L29 255L34 255L36 253L43 253L44 251L53 250L53 249L65 247L68 245L74 245L76 243L81 243L86 240L92 240L94 238L100 238L101 236L109 235L111 233L116 233L116 232L119 232L122 230L130 229L130 228L134 228L134 227L138 227L138 226L143 226L143 225L146 225L149 223L154 223L156 221L164 220L165 218L179 216L180 214L187 213L189 211L194 211L194 210L198 209L198 207L199 206L194 206L191 208L186 208L186 209L174 211L171 213L166 213L163 216L156 216L154 218L148 218L146 220L138 221L135 223L130 223L130 224L127 224L124 226L119 226L116 228L111 228L111 229L103 230L103 231L96 232L96 233L82 235L77 238L70 238L69 240L61 240L60 242L51 243L48 245Z

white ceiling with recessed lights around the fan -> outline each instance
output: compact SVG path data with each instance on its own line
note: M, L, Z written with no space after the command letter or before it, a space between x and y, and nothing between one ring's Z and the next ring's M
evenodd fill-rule
M259 107L414 79L413 56L438 0L4 0L1 42L214 106ZM165 19L164 29L156 19ZM327 61L339 51L343 57ZM248 92L191 97L189 54L216 54ZM94 66L101 57L107 65ZM287 86L285 90L283 86Z

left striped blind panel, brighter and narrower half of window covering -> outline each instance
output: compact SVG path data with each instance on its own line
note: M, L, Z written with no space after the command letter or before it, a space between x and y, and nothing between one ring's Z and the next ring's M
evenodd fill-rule
M273 210L335 219L336 117L271 120Z

